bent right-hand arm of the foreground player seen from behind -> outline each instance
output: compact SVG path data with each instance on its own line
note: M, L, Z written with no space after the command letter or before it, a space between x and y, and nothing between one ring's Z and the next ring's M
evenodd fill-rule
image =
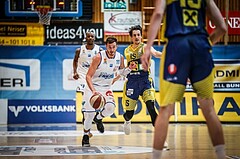
M213 0L207 1L207 16L216 26L214 31L210 34L210 40L212 44L215 44L226 33L227 26L223 20L221 12Z

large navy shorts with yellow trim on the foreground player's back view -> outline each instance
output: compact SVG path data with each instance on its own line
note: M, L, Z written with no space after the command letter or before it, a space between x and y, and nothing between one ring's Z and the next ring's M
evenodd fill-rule
M187 80L198 97L212 98L214 62L206 35L175 36L168 39L160 67L160 105L180 102Z

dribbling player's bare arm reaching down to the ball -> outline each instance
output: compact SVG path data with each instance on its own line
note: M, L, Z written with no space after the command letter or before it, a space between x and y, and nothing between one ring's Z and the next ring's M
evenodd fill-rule
M93 77L94 73L96 72L97 67L100 64L100 62L101 62L101 55L100 55L100 53L98 53L96 56L93 57L92 63L90 65L87 75L86 75L87 85L93 94L96 94L96 89L93 86L92 77Z

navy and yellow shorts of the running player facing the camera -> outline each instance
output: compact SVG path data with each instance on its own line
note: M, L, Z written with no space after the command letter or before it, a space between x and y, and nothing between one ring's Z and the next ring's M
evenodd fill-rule
M122 105L125 110L134 110L139 96L146 103L155 100L155 89L152 79L128 80L124 84Z

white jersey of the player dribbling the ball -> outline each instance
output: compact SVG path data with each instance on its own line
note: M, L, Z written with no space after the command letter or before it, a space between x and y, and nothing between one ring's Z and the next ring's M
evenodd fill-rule
M101 62L92 77L92 82L94 86L107 87L107 89L110 89L115 73L120 67L121 54L116 52L115 57L112 59L108 58L105 50L101 51L100 54Z

